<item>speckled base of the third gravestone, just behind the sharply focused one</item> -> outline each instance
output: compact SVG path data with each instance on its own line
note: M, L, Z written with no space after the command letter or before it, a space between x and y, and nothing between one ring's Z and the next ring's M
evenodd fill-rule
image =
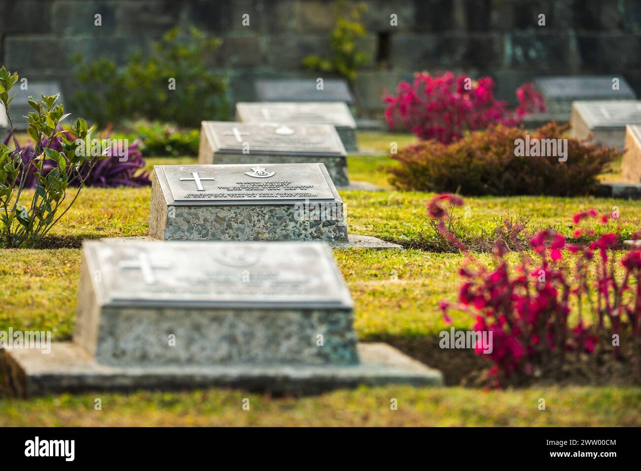
M204 158L204 156L207 158ZM211 156L211 157L210 157ZM268 163L324 163L336 186L349 185L347 175L347 160L345 156L288 156L288 155L265 155L265 154L201 154L198 163L215 163L216 165L229 163L246 163L254 165L256 162Z

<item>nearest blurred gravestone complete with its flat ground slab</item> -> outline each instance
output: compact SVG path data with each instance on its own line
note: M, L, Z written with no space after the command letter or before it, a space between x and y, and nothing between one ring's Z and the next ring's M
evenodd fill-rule
M1 349L4 387L442 384L387 345L358 345L351 296L318 242L85 242L76 319L73 342L49 354Z

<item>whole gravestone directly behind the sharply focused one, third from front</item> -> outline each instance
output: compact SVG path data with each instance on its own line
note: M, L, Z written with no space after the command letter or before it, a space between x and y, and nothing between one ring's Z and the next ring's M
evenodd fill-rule
M337 186L349 185L345 147L328 124L203 121L200 163L324 163Z

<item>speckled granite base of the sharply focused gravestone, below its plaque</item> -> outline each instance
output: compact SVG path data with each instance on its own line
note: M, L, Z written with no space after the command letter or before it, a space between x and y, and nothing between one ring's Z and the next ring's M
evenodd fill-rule
M331 214L331 211L328 213ZM151 188L149 235L159 240L347 241L347 224L344 220L297 220L296 216L297 210L294 206L169 208L154 178Z

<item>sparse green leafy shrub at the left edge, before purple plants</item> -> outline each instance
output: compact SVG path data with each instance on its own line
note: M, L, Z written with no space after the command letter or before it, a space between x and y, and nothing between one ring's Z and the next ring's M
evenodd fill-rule
M10 127L13 120L10 110L15 95L9 96L12 87L18 81L17 72L11 74L4 67L0 68L0 102L4 105ZM76 145L67 138L63 131L57 131L62 120L69 116L64 113L62 103L58 104L60 94L45 96L41 99L29 97L28 103L34 112L26 117L29 125L27 133L36 143L33 154L28 158L22 156L22 151L15 135L14 148L0 144L0 247L34 247L49 233L60 218L65 215L78 198L86 179L99 159L76 152ZM84 142L91 129L87 128L84 119L74 122L71 136ZM58 140L60 138L60 140ZM62 150L56 150L54 144L62 145ZM85 154L85 155L83 155ZM49 161L54 161L56 167L44 172L50 167ZM83 165L88 165L86 174L81 174ZM37 183L33 194L23 192L28 176L33 172ZM75 195L69 204L65 205L67 187L76 182ZM22 204L22 198L31 200L28 206Z

